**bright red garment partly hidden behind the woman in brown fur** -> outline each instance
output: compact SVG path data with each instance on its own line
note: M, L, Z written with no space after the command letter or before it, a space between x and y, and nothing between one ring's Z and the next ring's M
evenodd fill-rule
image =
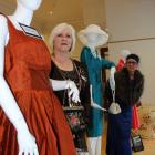
M120 59L117 65L116 65L116 71L122 70L122 68L124 66L125 62L123 59ZM136 105L133 106L133 116L132 116L132 128L133 130L138 130L140 128L140 118L138 118L138 113L137 113L137 107Z

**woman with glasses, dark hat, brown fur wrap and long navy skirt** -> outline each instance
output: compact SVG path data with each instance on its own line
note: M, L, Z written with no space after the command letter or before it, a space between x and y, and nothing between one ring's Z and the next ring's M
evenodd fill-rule
M110 114L107 124L106 154L107 155L132 155L131 125L132 106L142 96L144 89L144 76L137 70L140 58L130 54L125 66L115 73L115 102L121 107L120 114ZM108 103L112 103L112 91L107 82L105 94Z

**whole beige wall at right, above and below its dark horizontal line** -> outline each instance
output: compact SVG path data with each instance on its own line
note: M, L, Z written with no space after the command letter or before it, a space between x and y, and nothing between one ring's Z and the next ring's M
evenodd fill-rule
M155 105L155 0L105 0L105 7L111 59L117 62L122 49L141 56L145 75L142 104Z

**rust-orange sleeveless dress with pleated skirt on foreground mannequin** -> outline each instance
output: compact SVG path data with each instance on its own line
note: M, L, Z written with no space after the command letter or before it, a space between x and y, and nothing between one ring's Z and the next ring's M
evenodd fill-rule
M8 19L4 78L34 135L40 155L75 155L72 134L49 82L50 52ZM0 155L18 155L17 131L0 108Z

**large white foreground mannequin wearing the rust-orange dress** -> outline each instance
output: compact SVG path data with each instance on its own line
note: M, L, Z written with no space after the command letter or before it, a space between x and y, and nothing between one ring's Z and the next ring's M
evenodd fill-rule
M41 2L42 0L18 0L17 10L12 16L0 14L0 154L50 155L51 152L53 155L75 154L70 128L59 101L50 87L50 82L53 90L69 89L69 94L74 102L80 101L79 91L72 81L48 81L45 79L48 73L45 74L46 69L43 69L50 66L48 48L38 33L30 37L25 34L27 32L23 33L22 29L27 25L32 30L29 25L33 11L39 8ZM21 28L19 23L24 25ZM24 41L29 42L24 43ZM27 43L30 43L30 45ZM37 45L33 43L37 43ZM38 45L42 49L35 49ZM23 46L27 50L24 52L22 52ZM45 51L42 55L46 60L42 60L42 62L46 62L46 64L39 61L39 55L32 53L31 46L34 46L33 50L37 50L38 54L40 50ZM31 51L30 56L25 54L29 50ZM38 61L35 61L34 54L38 56ZM41 66L41 70L39 69L38 72L39 66ZM55 118L56 116L60 116L59 122ZM64 125L63 131L60 130L61 123ZM53 132L53 128L56 132ZM62 143L65 142L63 138L69 140L70 147L63 146Z

